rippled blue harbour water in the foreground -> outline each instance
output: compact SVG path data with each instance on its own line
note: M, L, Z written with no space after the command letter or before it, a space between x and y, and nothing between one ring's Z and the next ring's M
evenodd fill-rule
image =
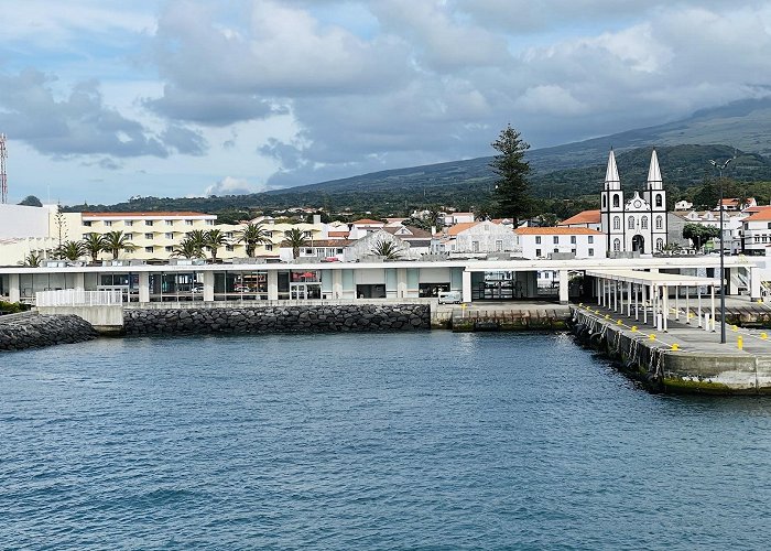
M1 549L767 549L771 400L566 335L101 339L0 355Z

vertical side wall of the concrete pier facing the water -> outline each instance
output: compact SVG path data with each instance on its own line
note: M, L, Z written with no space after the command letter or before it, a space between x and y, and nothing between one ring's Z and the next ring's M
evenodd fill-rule
M612 321L572 309L579 343L613 359L651 390L678 393L771 395L771 356L673 350Z

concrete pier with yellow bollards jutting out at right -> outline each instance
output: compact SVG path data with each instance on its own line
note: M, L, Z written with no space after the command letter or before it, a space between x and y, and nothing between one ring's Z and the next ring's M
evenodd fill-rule
M717 395L771 393L771 339L760 329L728 327L720 344L712 321L702 327L687 311L669 312L662 321L643 324L625 312L597 305L572 306L574 333L579 341L619 360L626 371L649 388L667 392ZM651 321L653 323L653 321ZM658 328L656 328L658 327Z

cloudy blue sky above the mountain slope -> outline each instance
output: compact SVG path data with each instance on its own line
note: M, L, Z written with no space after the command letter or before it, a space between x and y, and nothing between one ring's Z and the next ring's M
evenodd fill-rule
M0 0L9 203L254 193L771 95L771 2Z

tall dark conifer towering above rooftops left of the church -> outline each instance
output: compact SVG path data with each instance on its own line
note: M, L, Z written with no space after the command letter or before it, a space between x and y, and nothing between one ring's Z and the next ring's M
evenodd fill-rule
M530 144L522 140L520 132L511 128L511 125L507 125L491 145L499 153L490 163L492 172L498 176L495 191L498 213L513 218L517 227L520 218L528 217L532 208L528 183L530 163L524 160L524 152L530 149Z

